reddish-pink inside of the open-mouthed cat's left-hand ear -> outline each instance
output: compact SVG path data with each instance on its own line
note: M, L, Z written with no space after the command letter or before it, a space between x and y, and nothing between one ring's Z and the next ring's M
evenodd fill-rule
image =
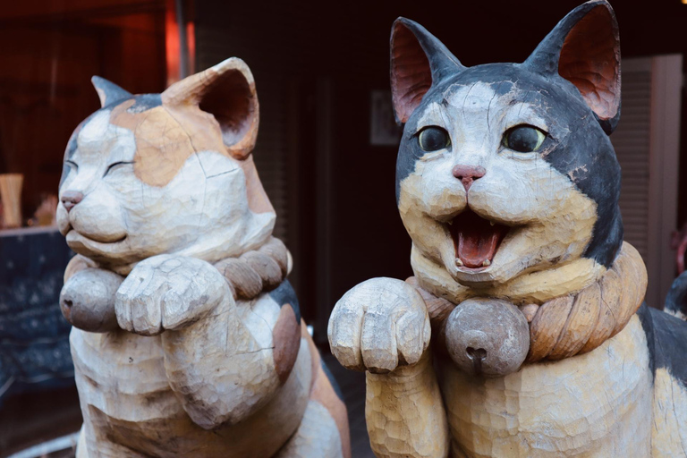
M432 85L427 55L403 23L394 28L391 44L391 93L398 119L405 123Z

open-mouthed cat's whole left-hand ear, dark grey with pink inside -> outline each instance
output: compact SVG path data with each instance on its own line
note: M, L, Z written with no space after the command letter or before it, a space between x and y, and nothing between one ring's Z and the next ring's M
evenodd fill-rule
M391 29L391 95L396 122L405 123L433 83L465 67L415 21L398 18Z

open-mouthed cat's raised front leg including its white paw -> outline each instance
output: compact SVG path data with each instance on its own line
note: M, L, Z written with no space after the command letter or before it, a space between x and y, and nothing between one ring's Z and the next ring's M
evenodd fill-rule
M365 417L377 457L447 456L448 424L420 293L392 278L359 284L336 303L328 335L342 365L368 370Z

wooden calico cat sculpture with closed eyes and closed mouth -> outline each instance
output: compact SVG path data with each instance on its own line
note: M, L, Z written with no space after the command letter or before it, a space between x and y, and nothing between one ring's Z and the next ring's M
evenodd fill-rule
M250 156L259 107L239 59L162 94L95 77L57 222L79 253L72 322L79 457L350 457L344 403L301 324Z

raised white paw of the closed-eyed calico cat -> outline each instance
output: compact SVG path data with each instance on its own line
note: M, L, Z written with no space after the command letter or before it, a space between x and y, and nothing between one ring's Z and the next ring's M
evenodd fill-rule
M158 335L198 321L227 295L225 278L208 262L165 254L131 270L117 290L114 310L123 329Z

